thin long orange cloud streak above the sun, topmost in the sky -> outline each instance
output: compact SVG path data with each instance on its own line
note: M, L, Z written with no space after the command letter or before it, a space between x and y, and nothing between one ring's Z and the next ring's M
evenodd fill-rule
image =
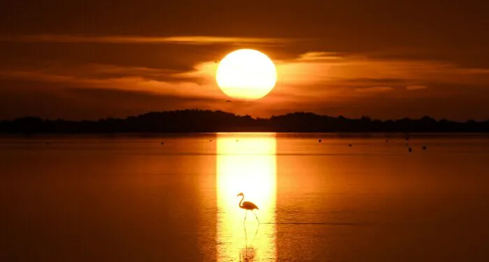
M262 44L274 45L292 42L286 38L249 38L222 36L80 36L80 35L22 35L0 36L0 40L33 43L108 43L108 44Z

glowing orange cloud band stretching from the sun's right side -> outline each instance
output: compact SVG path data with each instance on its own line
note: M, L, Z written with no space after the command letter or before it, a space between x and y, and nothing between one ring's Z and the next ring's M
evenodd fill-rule
M278 61L279 83L287 86L415 86L416 83L489 84L486 68L446 61L378 59L332 52L307 52ZM419 87L417 87L419 89Z

